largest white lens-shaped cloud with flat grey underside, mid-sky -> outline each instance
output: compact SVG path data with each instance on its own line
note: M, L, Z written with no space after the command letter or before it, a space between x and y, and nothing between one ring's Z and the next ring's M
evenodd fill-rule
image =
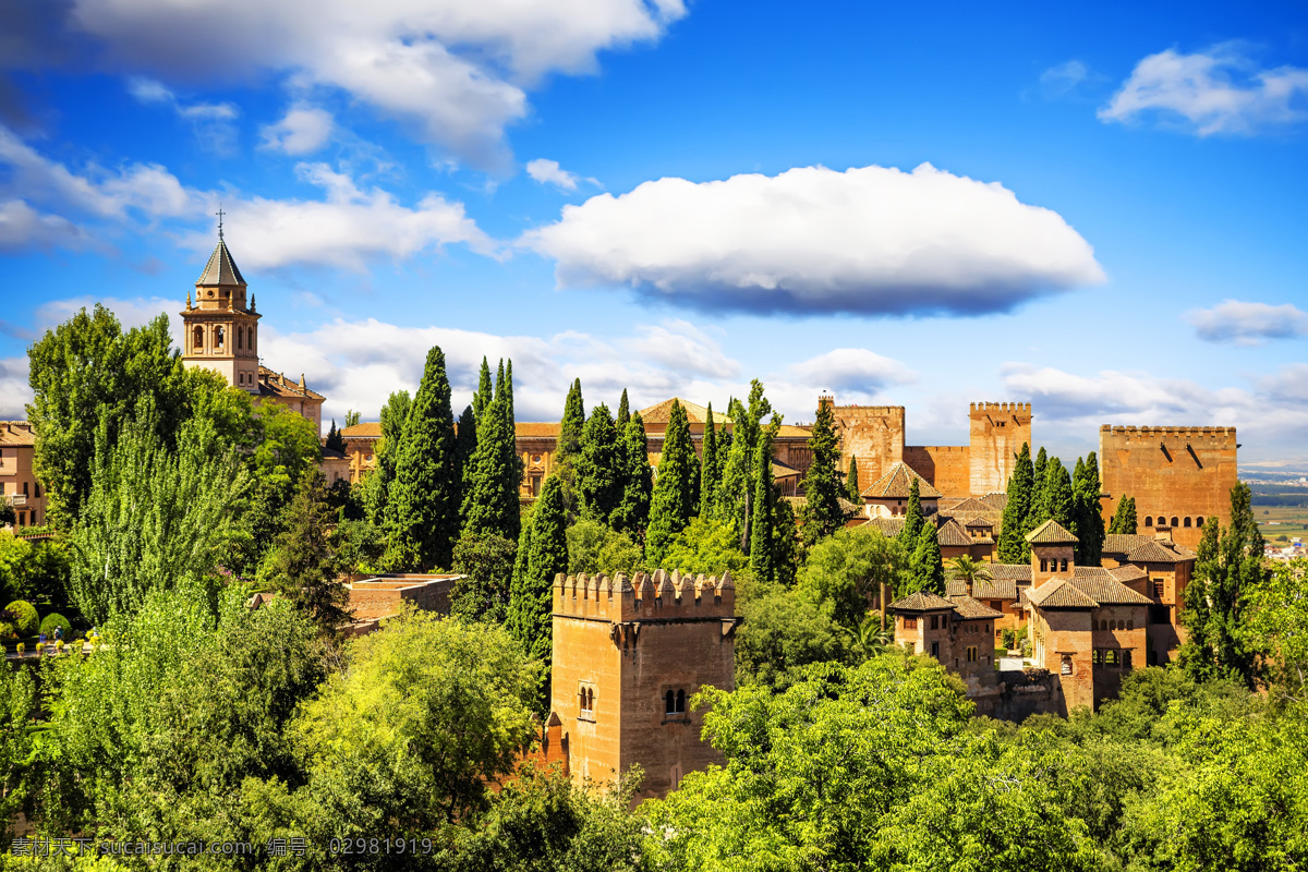
M564 207L519 242L557 260L562 286L706 310L972 315L1104 281L1056 212L929 163L664 178Z

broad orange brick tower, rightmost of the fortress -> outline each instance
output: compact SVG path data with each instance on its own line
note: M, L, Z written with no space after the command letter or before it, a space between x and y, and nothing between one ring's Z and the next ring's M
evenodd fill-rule
M1203 536L1199 519L1230 520L1237 447L1235 428L1101 426L1105 523L1122 497L1134 497L1138 532L1158 529L1163 518L1177 544L1197 548Z

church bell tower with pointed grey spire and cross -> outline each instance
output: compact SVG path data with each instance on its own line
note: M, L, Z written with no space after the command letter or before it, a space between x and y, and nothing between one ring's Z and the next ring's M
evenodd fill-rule
M259 392L259 314L254 297L246 305L246 281L222 238L195 282L195 303L186 295L182 363L203 366L250 394Z

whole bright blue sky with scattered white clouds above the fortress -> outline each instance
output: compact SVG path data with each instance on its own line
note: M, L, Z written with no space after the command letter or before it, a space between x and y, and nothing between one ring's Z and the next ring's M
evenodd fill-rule
M1308 459L1301 4L0 0L0 416L215 242L264 363L375 418L432 344L519 417L761 378L965 441L1035 404Z

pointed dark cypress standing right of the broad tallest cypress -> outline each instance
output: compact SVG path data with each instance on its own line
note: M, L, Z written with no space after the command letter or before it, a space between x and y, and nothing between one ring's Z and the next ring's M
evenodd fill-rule
M513 369L500 362L494 395L483 405L472 455L471 488L463 498L464 531L513 540L521 529L522 461L514 441Z

